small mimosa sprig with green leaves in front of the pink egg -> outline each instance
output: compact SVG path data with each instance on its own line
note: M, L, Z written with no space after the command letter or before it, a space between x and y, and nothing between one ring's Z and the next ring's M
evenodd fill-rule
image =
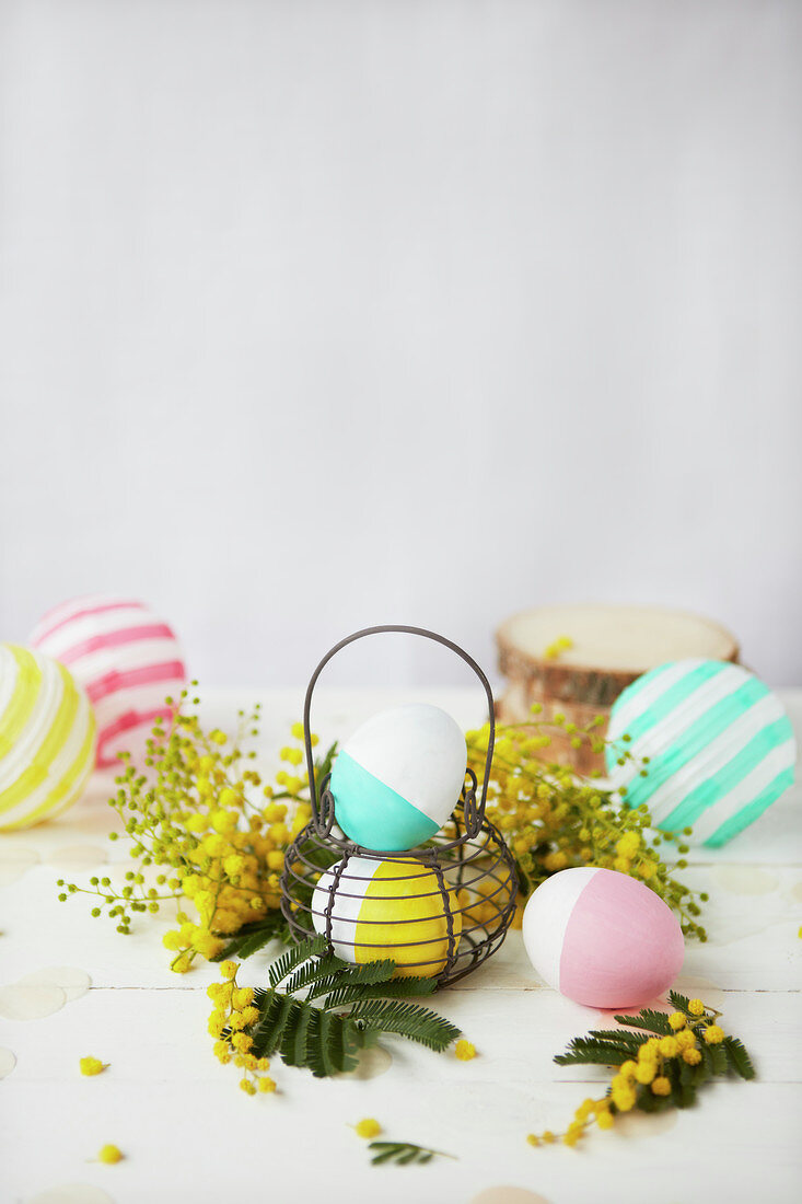
M676 991L668 993L671 1014L642 1008L637 1016L615 1016L629 1028L600 1029L576 1037L565 1054L554 1061L559 1066L614 1066L607 1093L601 1099L585 1099L574 1112L565 1133L530 1133L530 1145L562 1140L576 1145L595 1123L612 1128L615 1116L633 1109L643 1112L667 1108L690 1108L697 1088L710 1079L736 1074L754 1079L749 1054L737 1037L727 1037L718 1025L720 1011L706 1008L701 999L688 999ZM639 1029L631 1032L631 1029ZM654 1035L649 1035L654 1034Z

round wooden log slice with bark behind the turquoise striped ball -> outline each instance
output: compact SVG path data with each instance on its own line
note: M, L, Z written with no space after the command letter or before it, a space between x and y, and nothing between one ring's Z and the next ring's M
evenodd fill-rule
M559 655L547 655L560 637L572 641ZM621 690L665 661L702 656L737 661L735 637L701 615L662 607L574 604L536 607L507 619L496 632L499 668L508 687L496 703L502 724L531 721L532 703L542 718L561 713L578 727L595 715L609 716ZM597 728L603 736L607 726ZM579 773L605 769L603 755L586 743L571 746L556 732L543 750L548 761L573 766Z

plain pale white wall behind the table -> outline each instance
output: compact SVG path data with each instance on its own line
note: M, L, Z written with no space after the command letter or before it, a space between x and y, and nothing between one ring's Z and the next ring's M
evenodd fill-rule
M0 20L1 637L134 591L287 684L600 598L802 681L801 4Z

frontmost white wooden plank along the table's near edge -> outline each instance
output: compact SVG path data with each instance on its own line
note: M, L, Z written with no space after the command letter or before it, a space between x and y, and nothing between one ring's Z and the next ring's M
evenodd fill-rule
M4 1117L7 1198L65 1182L106 1188L117 1204L253 1199L372 1204L470 1202L479 1190L517 1185L548 1204L636 1204L647 1185L659 1200L725 1198L750 1204L798 1199L798 1088L719 1085L695 1110L632 1117L594 1133L578 1150L531 1149L527 1129L559 1128L577 1085L313 1082L248 1099L236 1088L154 1073L148 1081L18 1082ZM420 1168L368 1165L348 1128L376 1116L385 1135L456 1156ZM31 1128L36 1150L31 1150ZM126 1159L87 1162L107 1141ZM28 1157L16 1151L28 1150ZM769 1192L769 1194L766 1194Z

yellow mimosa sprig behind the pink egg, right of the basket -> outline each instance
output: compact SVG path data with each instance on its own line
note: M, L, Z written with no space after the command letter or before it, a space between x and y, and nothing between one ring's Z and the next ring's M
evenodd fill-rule
M549 874L568 867L618 869L639 878L665 899L679 915L686 937L706 940L707 933L697 921L701 908L696 898L706 903L708 896L696 896L673 877L673 867L661 860L659 850L667 838L653 831L645 804L630 810L620 804L613 791L601 789L592 778L579 777L567 766L538 760L552 743L549 728L567 733L574 746L589 742L594 751L602 751L605 740L596 730L603 718L597 715L585 727L577 727L559 714L549 722L538 720L539 710L538 704L532 707L531 724L496 726L488 790L488 818L505 834L513 851L521 893L529 896ZM479 780L489 732L485 724L467 733L468 765ZM626 737L624 743L627 743ZM631 754L624 749L620 760L627 759ZM684 834L690 834L690 828L685 828ZM688 845L680 843L677 851L680 857L676 868L684 869Z

